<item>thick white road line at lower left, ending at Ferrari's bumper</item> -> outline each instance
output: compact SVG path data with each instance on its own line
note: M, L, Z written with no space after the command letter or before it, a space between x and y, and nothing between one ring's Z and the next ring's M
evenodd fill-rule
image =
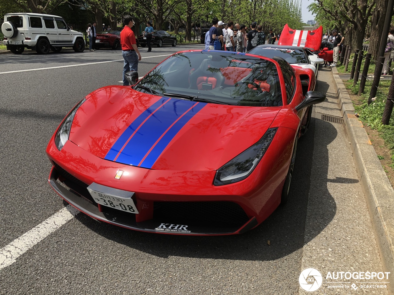
M50 218L0 249L0 269L16 262L20 255L26 253L30 248L34 247L37 243L52 234L52 232L59 229L79 212L80 211L73 206L67 205L65 208L53 214Z

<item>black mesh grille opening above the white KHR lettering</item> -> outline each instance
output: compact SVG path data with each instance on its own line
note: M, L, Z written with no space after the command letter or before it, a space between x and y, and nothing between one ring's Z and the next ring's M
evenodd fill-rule
M249 218L240 205L227 201L154 202L154 219L174 224L241 226Z

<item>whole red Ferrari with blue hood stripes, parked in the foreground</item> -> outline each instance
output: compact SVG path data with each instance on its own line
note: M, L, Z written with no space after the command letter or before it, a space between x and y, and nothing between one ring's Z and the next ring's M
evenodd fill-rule
M50 139L49 183L85 214L166 234L239 234L288 197L314 73L284 59L178 52L81 100Z

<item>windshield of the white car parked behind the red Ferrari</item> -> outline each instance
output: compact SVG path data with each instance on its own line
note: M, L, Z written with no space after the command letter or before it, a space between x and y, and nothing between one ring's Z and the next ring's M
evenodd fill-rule
M273 58L274 56L282 57L288 63L306 63L309 64L309 61L305 57L304 52L301 49L287 49L287 48L260 48L256 47L249 52L251 54L261 55L269 58Z

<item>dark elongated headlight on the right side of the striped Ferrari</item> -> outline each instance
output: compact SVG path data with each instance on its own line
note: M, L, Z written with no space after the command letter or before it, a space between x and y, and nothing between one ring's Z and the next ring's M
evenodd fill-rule
M278 128L269 128L262 138L216 172L214 185L236 183L248 177L255 170L267 151Z

